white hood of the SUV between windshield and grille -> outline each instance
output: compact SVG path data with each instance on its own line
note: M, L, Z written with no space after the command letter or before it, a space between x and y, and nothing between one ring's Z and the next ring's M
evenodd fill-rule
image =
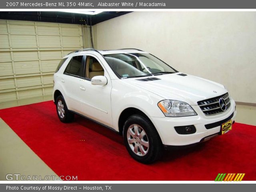
M223 85L200 77L182 73L162 74L143 78L128 78L127 83L157 94L163 99L180 100L190 105L198 101L220 96L228 92ZM138 79L159 78L159 80L140 81Z

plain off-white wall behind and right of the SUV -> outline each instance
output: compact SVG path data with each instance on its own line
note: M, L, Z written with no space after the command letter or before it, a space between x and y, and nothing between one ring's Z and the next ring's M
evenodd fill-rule
M93 27L98 49L138 48L256 103L256 12L132 12Z

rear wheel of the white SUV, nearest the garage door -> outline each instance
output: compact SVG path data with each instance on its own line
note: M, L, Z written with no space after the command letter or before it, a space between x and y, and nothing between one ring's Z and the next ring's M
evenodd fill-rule
M67 108L66 102L62 95L59 95L55 101L58 118L63 123L71 122L74 119L74 114Z

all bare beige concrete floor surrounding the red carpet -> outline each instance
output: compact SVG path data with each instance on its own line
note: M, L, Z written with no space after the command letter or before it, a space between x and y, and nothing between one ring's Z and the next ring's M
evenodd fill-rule
M0 109L52 100L52 96L0 103ZM256 126L256 106L236 105L236 122ZM0 180L6 174L58 176L0 118ZM14 179L16 180L16 179Z

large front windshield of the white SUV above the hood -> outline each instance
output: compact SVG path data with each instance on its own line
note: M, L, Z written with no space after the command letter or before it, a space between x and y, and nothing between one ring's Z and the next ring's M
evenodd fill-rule
M118 53L104 55L121 78L176 73L168 64L148 53Z

